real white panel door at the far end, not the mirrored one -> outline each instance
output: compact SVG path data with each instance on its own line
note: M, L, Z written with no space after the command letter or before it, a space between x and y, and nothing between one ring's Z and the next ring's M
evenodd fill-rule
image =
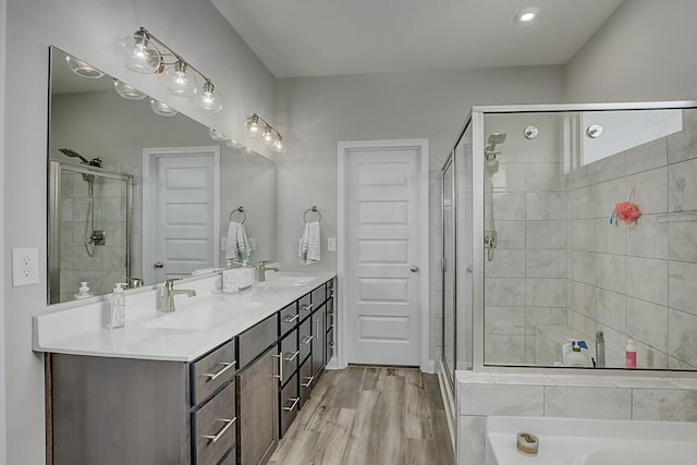
M347 362L420 365L416 147L346 155Z

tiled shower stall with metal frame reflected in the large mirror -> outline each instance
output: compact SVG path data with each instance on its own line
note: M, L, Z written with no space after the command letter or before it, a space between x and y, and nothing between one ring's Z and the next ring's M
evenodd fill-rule
M85 159L82 164L50 160L50 304L73 299L81 282L100 295L131 277L132 192L131 174Z

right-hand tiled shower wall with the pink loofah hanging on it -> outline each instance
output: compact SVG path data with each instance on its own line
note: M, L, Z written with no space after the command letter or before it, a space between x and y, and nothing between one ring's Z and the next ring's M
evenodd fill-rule
M683 131L582 167L568 184L568 326L595 340L608 364L637 341L640 368L697 367L697 221L659 222L697 210L697 111ZM681 187L684 185L681 192ZM610 224L635 189L641 218Z

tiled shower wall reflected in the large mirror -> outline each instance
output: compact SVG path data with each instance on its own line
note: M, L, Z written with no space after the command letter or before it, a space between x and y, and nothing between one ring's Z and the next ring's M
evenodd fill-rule
M114 283L125 282L125 183L95 178L95 229L105 230L107 242L90 245L91 257L85 247L85 231L90 229L88 183L70 172L62 173L61 183L61 302L72 299L82 281L96 294L111 292Z

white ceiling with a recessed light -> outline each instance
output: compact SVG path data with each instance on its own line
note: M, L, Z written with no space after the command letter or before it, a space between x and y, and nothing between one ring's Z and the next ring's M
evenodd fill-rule
M276 77L566 63L622 0L211 0ZM525 7L540 9L517 24Z

